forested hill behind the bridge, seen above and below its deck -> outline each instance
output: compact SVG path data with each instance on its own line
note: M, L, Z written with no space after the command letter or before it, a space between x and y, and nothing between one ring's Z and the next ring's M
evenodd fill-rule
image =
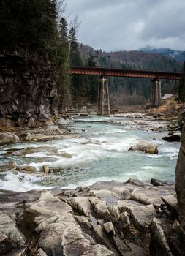
M83 63L89 56L94 57L97 66L118 67L124 69L170 70L181 72L181 63L170 57L143 51L117 51L106 53L94 50L88 45L79 45ZM150 92L150 80L138 78L110 78L110 92L120 105L137 105L147 102ZM162 80L162 93L175 93L178 84Z

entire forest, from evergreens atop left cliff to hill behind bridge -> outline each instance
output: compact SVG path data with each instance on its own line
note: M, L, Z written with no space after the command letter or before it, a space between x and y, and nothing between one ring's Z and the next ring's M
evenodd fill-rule
M141 51L105 53L78 43L76 24L64 18L65 1L2 0L0 6L0 50L48 63L56 74L60 108L97 102L97 77L69 75L70 66L118 67L125 69L181 70L181 64L166 56ZM120 105L146 103L150 81L145 79L110 78L113 98L120 97ZM162 81L162 93L176 93L176 83Z

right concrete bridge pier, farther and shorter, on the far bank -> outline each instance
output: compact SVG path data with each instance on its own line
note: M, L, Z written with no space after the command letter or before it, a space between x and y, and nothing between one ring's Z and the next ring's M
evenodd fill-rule
M153 79L151 80L151 105L159 106L161 98L161 81Z

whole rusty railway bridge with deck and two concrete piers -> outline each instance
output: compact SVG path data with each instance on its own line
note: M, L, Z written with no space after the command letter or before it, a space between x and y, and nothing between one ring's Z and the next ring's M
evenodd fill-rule
M161 80L179 80L180 72L154 71L143 69L115 69L106 67L70 67L71 75L98 75L98 112L99 115L110 114L108 79L109 76L123 78L151 79L151 105L158 106L161 101Z

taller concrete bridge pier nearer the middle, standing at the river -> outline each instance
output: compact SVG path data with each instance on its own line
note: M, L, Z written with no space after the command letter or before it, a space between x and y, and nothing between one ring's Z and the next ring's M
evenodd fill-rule
M108 79L104 77L99 78L97 114L102 116L110 115Z

